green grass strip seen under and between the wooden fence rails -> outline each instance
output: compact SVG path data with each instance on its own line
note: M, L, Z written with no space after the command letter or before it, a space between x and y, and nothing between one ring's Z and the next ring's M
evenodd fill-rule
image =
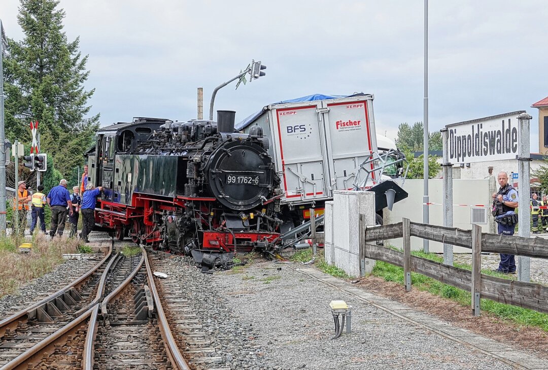
M443 261L443 258L439 257L437 254L424 253L421 251L412 251L411 253L418 257L426 258L432 261ZM455 267L471 270L470 265L454 265ZM507 275L498 274L497 272L490 270L482 270L482 274L509 278ZM397 267L383 261L376 261L372 275L384 278L386 281L397 282L403 286L402 267ZM417 274L416 272L411 273L411 284L415 288L419 289L419 291L425 291L433 295L438 295L439 297L448 298L465 307L470 306L471 293L464 291L463 289L455 288L448 284L443 284L430 277ZM480 308L482 311L490 312L502 320L518 323L523 326L539 327L548 332L548 315L546 314L541 314L540 312L521 307L498 303L489 299L481 299Z

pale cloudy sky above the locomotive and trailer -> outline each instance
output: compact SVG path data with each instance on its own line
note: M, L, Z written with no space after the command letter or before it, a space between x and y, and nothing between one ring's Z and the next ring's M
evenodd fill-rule
M4 0L10 38L23 37L19 2ZM266 76L219 90L215 109L236 121L310 94L374 94L376 131L423 121L424 2L361 0L61 0L69 41L89 55L86 89L101 126L132 117L204 117L216 86L252 59ZM545 0L429 3L429 128L526 110L538 151L538 110L548 96Z

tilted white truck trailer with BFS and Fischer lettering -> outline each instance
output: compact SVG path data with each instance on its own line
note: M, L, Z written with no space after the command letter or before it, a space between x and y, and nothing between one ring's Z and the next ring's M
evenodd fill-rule
M372 94L282 101L265 106L235 128L248 133L255 125L270 140L269 154L281 179L282 212L292 213L295 224L310 217L309 208L322 214L334 190L378 183L381 174L373 170L374 163L363 164L378 151ZM393 148L381 150L396 149L390 139L382 141ZM364 184L367 172L369 181ZM398 174L395 168L391 172Z

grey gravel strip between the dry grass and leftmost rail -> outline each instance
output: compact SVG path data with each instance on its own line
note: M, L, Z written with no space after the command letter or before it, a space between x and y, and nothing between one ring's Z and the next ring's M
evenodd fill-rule
M0 320L67 286L97 263L95 260L67 260L48 274L21 287L19 295L6 295L0 299Z

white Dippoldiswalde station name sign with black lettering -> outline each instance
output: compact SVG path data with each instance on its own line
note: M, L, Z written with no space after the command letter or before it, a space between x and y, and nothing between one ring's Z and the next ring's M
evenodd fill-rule
M448 124L449 162L472 163L516 158L518 119L525 111Z

